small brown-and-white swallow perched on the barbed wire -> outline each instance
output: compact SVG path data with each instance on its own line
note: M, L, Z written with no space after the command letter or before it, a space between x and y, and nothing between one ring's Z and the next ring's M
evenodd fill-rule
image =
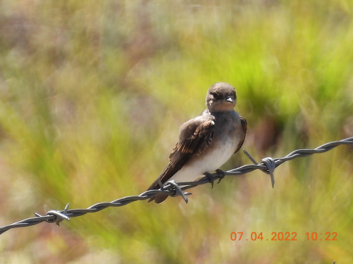
M207 91L207 108L197 117L180 126L178 143L169 155L169 162L147 190L158 190L168 181L190 182L210 172L223 174L219 167L244 143L247 122L234 111L235 88L225 82L213 84ZM157 194L148 202L161 203L166 194Z

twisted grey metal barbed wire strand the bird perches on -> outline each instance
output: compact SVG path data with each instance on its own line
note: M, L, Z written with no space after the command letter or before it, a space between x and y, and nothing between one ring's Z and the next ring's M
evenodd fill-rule
M81 216L87 213L95 213L100 210L103 210L107 207L120 207L127 205L128 203L134 202L134 201L139 201L139 200L147 200L150 199L157 194L166 194L169 196L182 196L184 201L187 203L187 195L190 195L191 193L184 193L184 190L196 187L201 184L205 183L211 183L213 186L213 182L215 180L219 180L219 182L222 180L223 177L225 176L238 176L242 175L248 172L251 172L253 170L261 170L265 172L266 174L270 175L271 178L271 184L272 187L274 187L274 176L273 172L274 169L277 168L279 165L283 164L286 161L290 161L294 158L298 157L306 157L315 153L323 153L326 151L329 151L333 149L336 146L339 145L353 145L353 137L351 138L346 138L338 141L333 141L326 143L324 145L321 145L315 149L298 149L294 150L291 153L289 153L287 156L282 157L282 158L263 158L261 160L261 163L257 163L250 155L247 153L245 150L246 156L253 162L253 164L247 164L240 166L238 168L228 170L228 171L220 171L217 170L216 173L213 174L207 174L207 176L201 178L198 181L195 182L179 182L175 183L174 181L169 181L165 186L160 188L159 190L149 190L149 191L144 191L143 193L139 195L133 195L133 196L126 196L122 197L120 199L111 201L111 202L100 202L96 203L95 205L92 205L86 209L68 209L69 203L65 206L64 210L49 210L46 215L40 215L38 213L34 213L36 217L32 218L27 218L18 222L15 222L10 225L6 225L3 227L0 227L0 234L4 233L7 230L10 230L11 228L16 228L16 227L25 227L25 226L32 226L32 225L37 225L41 222L49 222L49 223L56 223L57 226L59 226L59 223L63 221L64 219L70 220L72 217L77 217ZM182 187L180 187L182 186Z

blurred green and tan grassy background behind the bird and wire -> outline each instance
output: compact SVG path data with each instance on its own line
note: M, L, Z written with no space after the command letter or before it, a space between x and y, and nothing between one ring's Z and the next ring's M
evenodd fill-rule
M0 226L145 191L215 82L237 89L257 161L352 137L352 43L351 0L1 0ZM353 263L352 160L339 146L284 163L274 189L254 171L188 204L12 229L0 262Z

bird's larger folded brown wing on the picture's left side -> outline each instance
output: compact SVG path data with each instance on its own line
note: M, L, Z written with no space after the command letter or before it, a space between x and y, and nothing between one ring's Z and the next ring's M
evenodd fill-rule
M159 189L158 180L166 183L193 155L204 152L212 142L214 117L198 116L180 126L180 137L169 156L169 163L160 176L148 188Z

